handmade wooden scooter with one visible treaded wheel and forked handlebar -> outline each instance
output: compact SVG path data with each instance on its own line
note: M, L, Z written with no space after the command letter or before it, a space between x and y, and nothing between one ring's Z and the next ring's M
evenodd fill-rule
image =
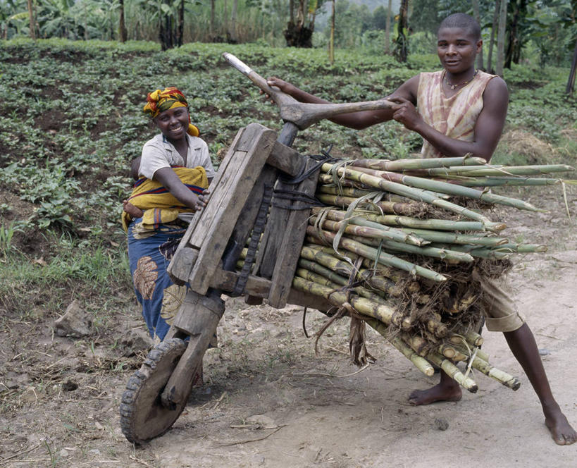
M211 183L206 207L190 222L168 273L189 286L170 331L130 377L120 404L128 441L141 444L168 431L184 410L193 378L225 310L222 296L297 304L324 312L329 304L292 290L320 164L290 146L298 130L340 113L389 109L385 99L350 104L304 104L231 54L225 59L279 106L280 134L259 123L241 128ZM237 259L247 246L242 271Z

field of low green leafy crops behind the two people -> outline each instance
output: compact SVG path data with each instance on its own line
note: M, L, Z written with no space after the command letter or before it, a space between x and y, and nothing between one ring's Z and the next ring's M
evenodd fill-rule
M224 51L261 75L334 101L378 99L411 75L438 68L430 54L413 54L403 67L382 54L337 50L330 66L321 49L259 44L195 43L162 52L151 42L1 42L1 307L30 316L42 304L52 314L66 306L70 291L88 303L91 295L106 295L113 307L111 292L130 291L119 217L132 183L130 160L156 133L142 113L147 92L168 85L185 92L215 166L242 126L256 121L280 130L277 109L225 63ZM537 162L574 163L577 106L563 93L566 74L554 67L506 70L507 131L550 149ZM504 140L497 161L528 161L522 147ZM421 139L395 122L357 132L325 121L300 133L294 146L316 154L331 145L341 158L399 158L417 152Z

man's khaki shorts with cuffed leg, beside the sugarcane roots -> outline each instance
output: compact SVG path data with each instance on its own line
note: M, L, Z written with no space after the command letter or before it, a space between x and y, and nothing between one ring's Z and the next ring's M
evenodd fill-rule
M485 315L485 325L489 331L515 331L525 323L515 302L509 295L507 278L497 280L481 275L473 270L473 280L481 287L480 305Z

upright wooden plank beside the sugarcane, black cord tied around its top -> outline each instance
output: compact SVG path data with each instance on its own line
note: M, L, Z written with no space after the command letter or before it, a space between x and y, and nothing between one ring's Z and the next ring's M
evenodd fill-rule
M314 168L314 166L316 166L314 159L309 159L306 162L306 170ZM316 171L311 173L309 177L304 179L299 185L279 183L277 190L296 189L298 192L306 195L314 195L320 169L321 168L318 167ZM280 204L287 202L289 202L289 200L280 199L279 201ZM285 219L288 214L280 245L275 245L276 248L273 251L267 252L268 256L272 256L275 259L272 274L273 285L271 286L271 292L268 294L268 304L270 304L271 307L285 307L287 303L292 277L294 276L294 271L297 269L297 261L299 260L302 243L306 234L307 219L310 216L309 202L294 200L291 202L291 205L292 210L274 207L275 211L271 212L271 217L273 214L276 214L279 218ZM271 245L270 242L269 245ZM269 261L268 264L270 263ZM263 261L263 265L264 264L266 264L266 258Z

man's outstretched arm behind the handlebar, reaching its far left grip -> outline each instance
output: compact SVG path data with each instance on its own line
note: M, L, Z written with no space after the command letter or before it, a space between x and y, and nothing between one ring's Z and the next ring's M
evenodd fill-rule
M296 86L292 85L292 83L280 80L280 78L268 78L267 83L269 86L278 87L282 92L289 94L299 102L308 102L311 104L331 104L330 101L326 101L325 99L314 96L314 94L309 94L308 92L300 90ZM390 99L391 97L400 97L406 99L409 102L412 102L413 104L416 104L417 90L418 75L404 82L397 88L397 90L395 90L395 92L390 94L387 99ZM371 125L375 125L376 123L392 120L394 113L394 109L383 109L379 111L359 111L343 113L340 116L330 118L329 120L348 128L362 130L364 128L370 127Z

